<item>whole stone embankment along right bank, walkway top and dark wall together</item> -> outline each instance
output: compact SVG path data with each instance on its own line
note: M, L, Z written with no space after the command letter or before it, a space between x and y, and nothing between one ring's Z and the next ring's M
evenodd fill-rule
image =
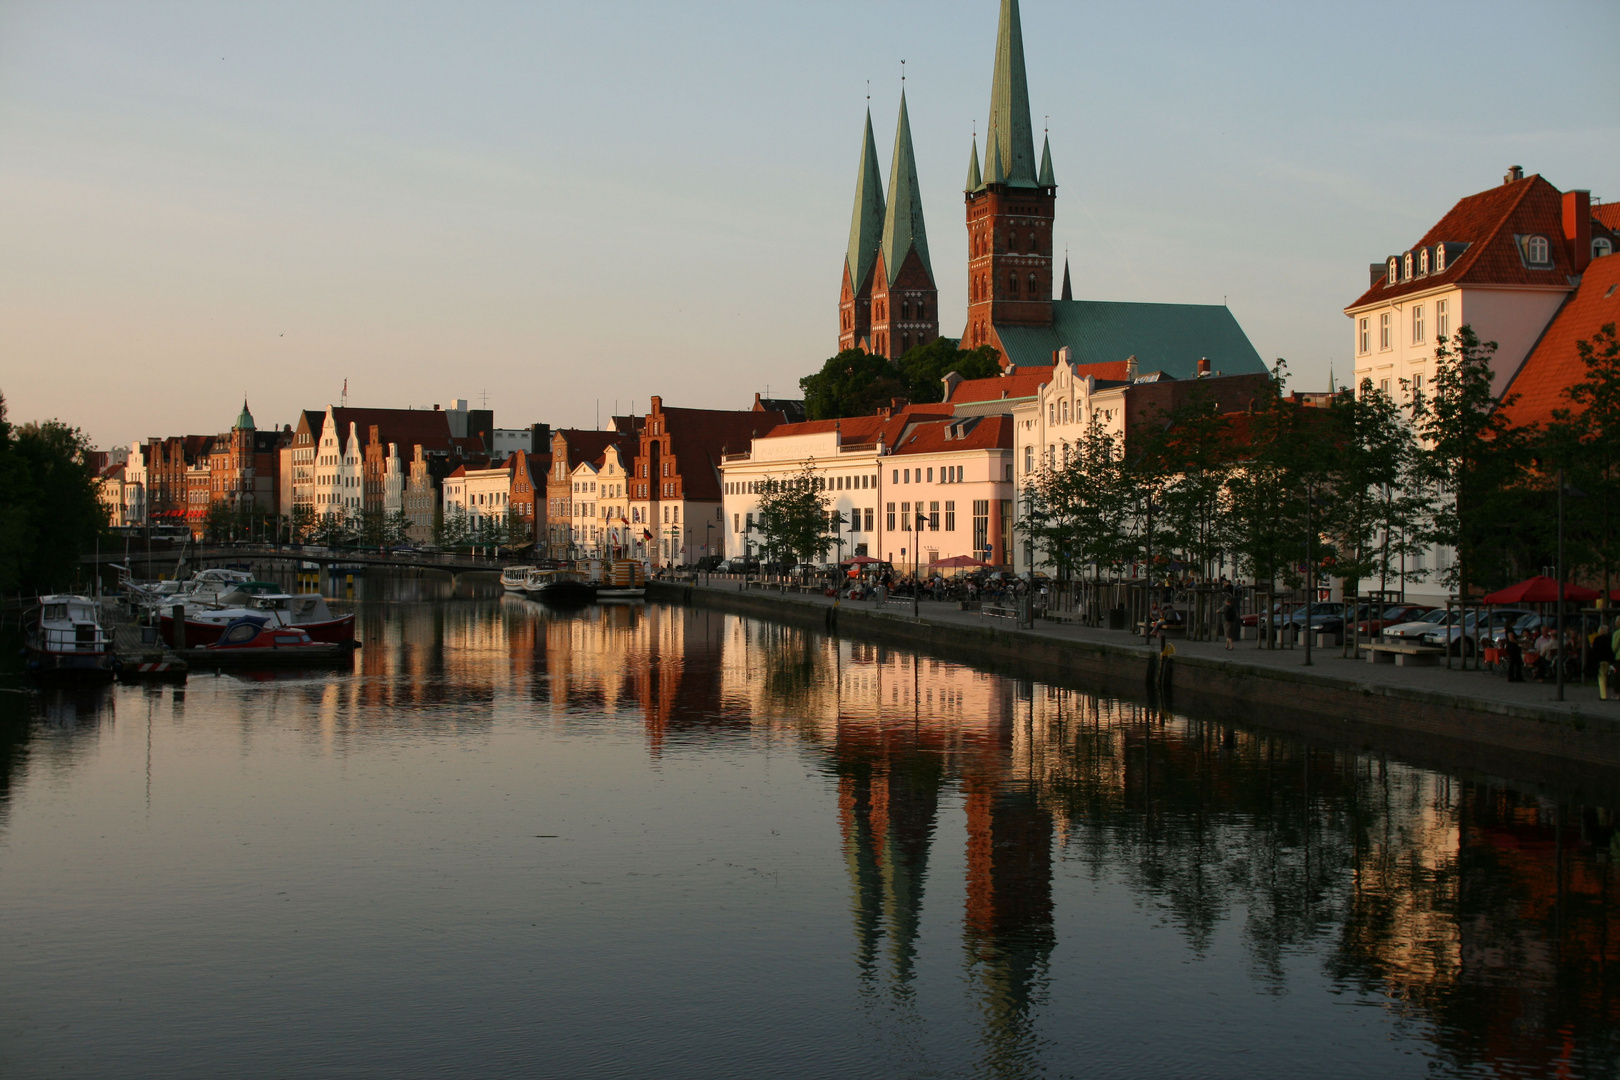
M1157 646L1139 636L1038 620L964 612L956 604L909 599L834 601L716 578L654 581L648 596L742 615L876 638L1001 674L1069 682L1116 696L1150 691ZM1448 766L1511 772L1520 779L1580 780L1620 790L1620 701L1599 701L1592 685L1571 685L1555 701L1545 683L1508 683L1489 672L1395 667L1317 649L1260 649L1254 641L1176 641L1168 670L1171 704L1204 719L1260 724L1338 742L1377 743Z

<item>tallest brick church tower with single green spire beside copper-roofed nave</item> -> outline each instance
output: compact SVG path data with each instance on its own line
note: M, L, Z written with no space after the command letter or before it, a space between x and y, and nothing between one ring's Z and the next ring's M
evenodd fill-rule
M1051 144L1035 167L1017 0L1001 0L990 84L985 165L978 141L967 165L967 327L962 347L995 345L998 325L1051 325L1051 219L1058 181Z

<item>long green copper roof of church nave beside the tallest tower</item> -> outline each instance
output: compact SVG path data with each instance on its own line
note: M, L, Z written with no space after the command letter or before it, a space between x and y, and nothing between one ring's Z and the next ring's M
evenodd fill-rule
M1137 371L1196 379L1199 358L1228 376L1265 371L1225 304L1132 304L1110 300L1055 300L1050 327L996 325L1008 358L1019 368L1045 366L1069 347L1076 363L1136 356Z

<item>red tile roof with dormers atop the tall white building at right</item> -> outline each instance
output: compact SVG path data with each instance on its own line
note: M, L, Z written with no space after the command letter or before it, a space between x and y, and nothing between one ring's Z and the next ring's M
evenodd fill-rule
M1413 249L1437 243L1466 243L1442 274L1414 277L1388 288L1383 279L1362 293L1346 311L1364 304L1426 291L1437 285L1550 285L1567 288L1575 269L1563 243L1563 193L1539 175L1524 176L1460 199ZM1542 233L1550 240L1552 266L1531 269L1520 256L1515 235ZM1388 253L1405 254L1405 253Z

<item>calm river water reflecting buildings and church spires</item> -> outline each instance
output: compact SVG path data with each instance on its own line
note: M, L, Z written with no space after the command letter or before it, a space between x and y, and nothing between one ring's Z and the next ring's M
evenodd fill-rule
M0 691L0 1075L1620 1064L1609 806L413 588L358 604L352 674Z

